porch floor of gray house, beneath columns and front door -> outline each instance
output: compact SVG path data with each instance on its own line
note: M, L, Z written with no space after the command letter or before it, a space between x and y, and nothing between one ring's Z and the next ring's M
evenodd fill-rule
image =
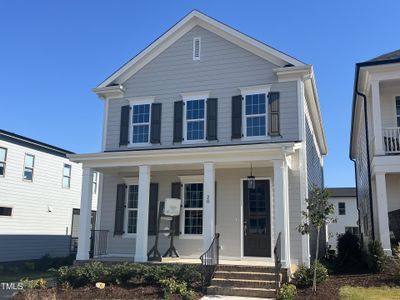
M104 262L134 262L133 257L122 257L122 256L103 256L96 257L92 260L104 261ZM162 261L149 261L152 264L200 264L199 258L163 258ZM266 261L262 259L220 259L220 265L228 266L259 266L259 267L274 267L274 262Z

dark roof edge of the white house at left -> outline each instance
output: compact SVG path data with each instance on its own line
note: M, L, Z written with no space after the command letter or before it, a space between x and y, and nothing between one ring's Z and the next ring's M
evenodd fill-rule
M67 154L75 154L72 151L52 146L3 129L0 129L0 140L5 140L10 143L21 145L23 147L28 147L31 149L43 151L61 157L67 157Z

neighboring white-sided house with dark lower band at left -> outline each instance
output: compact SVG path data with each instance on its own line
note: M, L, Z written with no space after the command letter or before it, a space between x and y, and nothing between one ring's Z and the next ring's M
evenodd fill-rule
M0 130L0 261L70 254L82 166L67 154L72 152ZM77 226L75 221L75 231Z

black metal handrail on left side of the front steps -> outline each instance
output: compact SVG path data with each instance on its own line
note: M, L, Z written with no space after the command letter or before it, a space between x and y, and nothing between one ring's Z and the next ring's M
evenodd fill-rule
M216 233L210 247L200 256L201 260L201 282L203 291L209 285L214 276L215 269L219 264L219 233Z

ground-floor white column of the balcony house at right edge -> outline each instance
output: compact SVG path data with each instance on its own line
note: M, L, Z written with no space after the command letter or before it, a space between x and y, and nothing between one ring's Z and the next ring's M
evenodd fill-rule
M387 193L386 193L386 174L375 174L376 183L376 197L377 197L377 215L378 215L378 230L379 240L382 243L383 250L387 255L392 255L390 246L390 233L389 233L389 216L387 206Z

